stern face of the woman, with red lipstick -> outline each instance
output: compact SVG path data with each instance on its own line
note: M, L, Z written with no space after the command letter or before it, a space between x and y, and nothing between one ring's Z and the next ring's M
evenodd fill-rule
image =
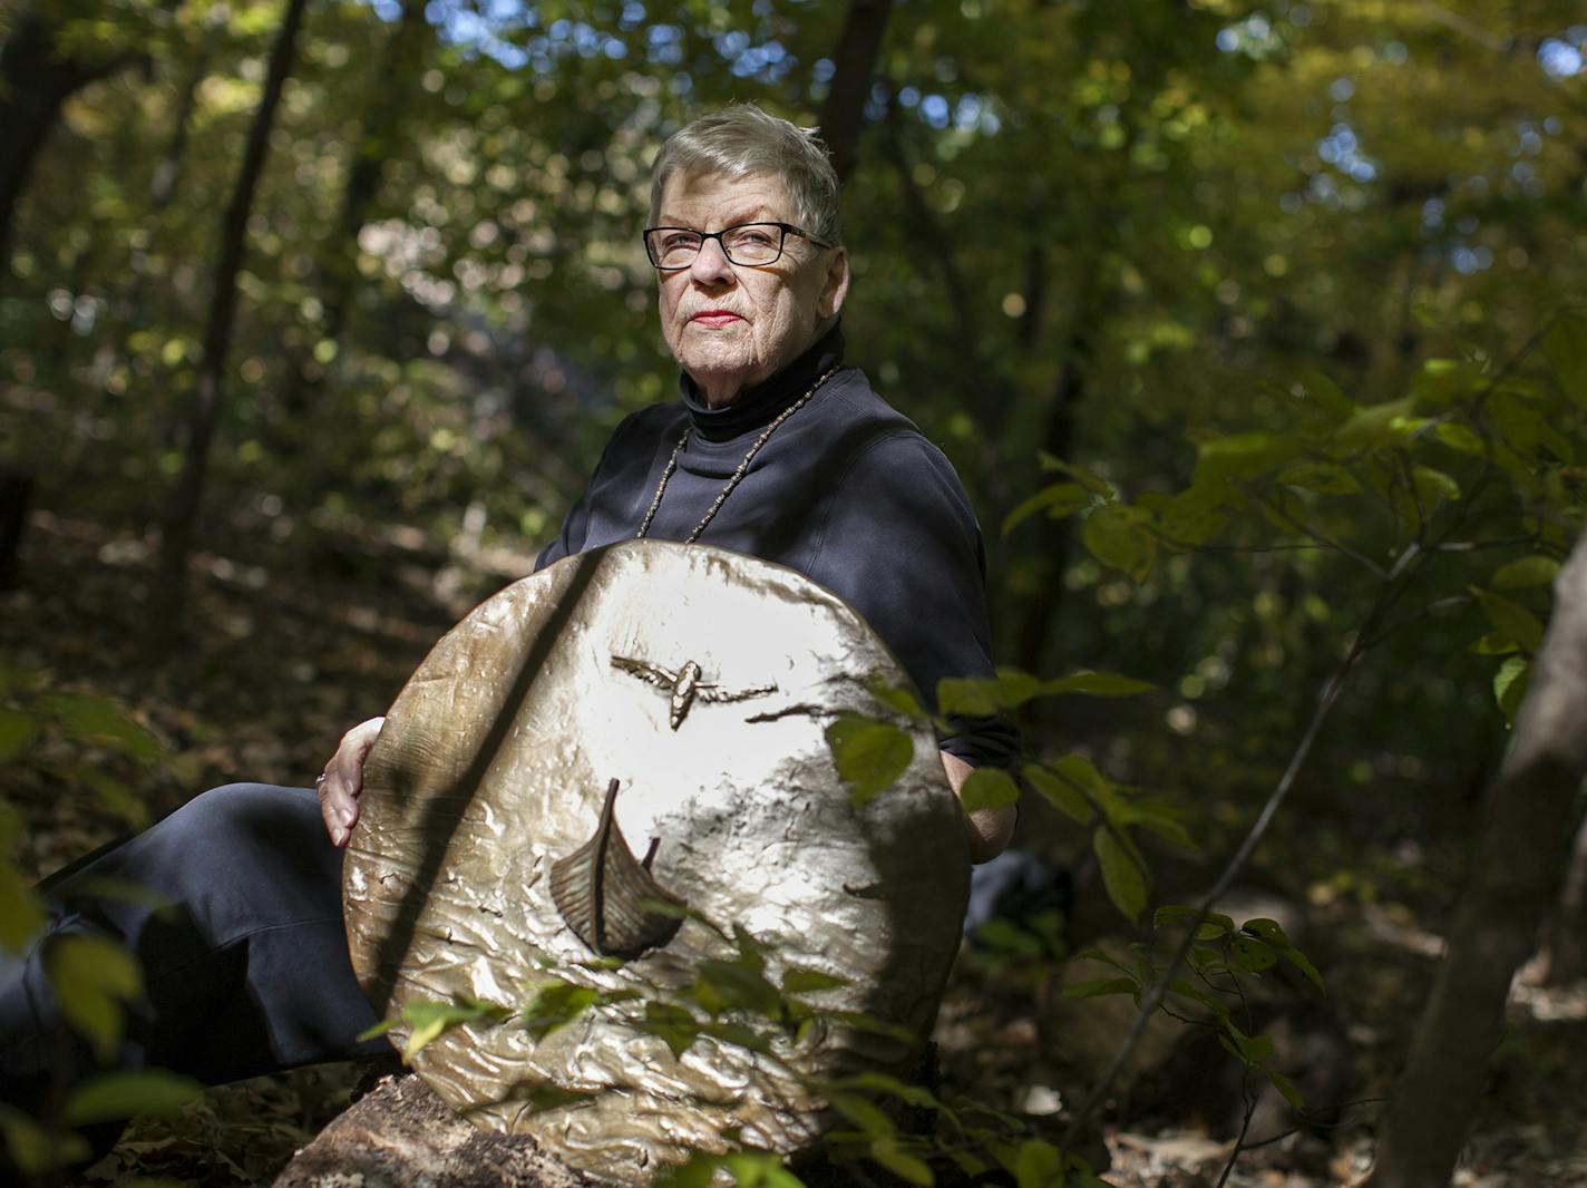
M773 173L678 174L662 190L657 225L719 232L743 222L794 222ZM689 268L660 278L662 333L713 408L768 379L816 343L849 289L843 247L789 235L771 265L735 265L706 240Z

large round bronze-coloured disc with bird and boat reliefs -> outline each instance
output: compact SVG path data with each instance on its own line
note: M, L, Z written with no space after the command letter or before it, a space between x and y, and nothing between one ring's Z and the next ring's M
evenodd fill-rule
M673 688L635 679L633 663ZM755 696L695 696L679 717L686 674ZM343 888L365 990L392 1017L454 994L522 1004L548 968L652 994L732 956L686 920L619 969L579 964L594 953L552 902L551 868L589 844L616 779L617 825L638 855L655 842L655 880L771 945L773 982L787 966L849 979L813 1001L928 1031L959 942L965 842L928 731L898 785L851 807L824 728L874 709L873 674L905 680L840 600L706 546L619 544L503 590L436 644L370 753ZM908 1072L903 1045L841 1026L779 1040L778 1060L714 1039L674 1058L624 1021L638 1010L594 1009L540 1044L517 1023L467 1026L416 1066L475 1123L622 1183L720 1150L730 1128L773 1150L808 1144L828 1120L801 1077ZM587 1096L530 1109L546 1083Z

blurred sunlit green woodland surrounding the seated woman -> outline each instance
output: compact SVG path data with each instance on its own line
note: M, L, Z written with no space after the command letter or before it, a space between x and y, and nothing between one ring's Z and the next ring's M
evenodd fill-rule
M1000 658L1152 685L1003 688L1033 760L1078 757L1139 844L1120 864L1073 801L1027 795L1017 845L1073 869L1070 920L966 956L949 1077L1036 1121L1084 1098L1101 1061L1068 1040L1095 1025L1052 987L1128 929L1103 883L1127 909L1149 879L1154 904L1209 887L1347 674L1239 885L1327 975L1360 1104L1230 1182L1358 1177L1582 519L1582 21L8 0L6 879L213 784L306 784L528 571L613 425L674 382L649 160L754 100L836 151L849 362L959 468ZM1146 839L1181 831L1195 850ZM1535 839L1550 896L1573 833ZM1587 1180L1584 877L1511 994L1463 1183ZM1152 1075L1098 1107L1117 1182L1214 1182L1230 1136ZM343 1080L208 1094L102 1178L268 1182Z

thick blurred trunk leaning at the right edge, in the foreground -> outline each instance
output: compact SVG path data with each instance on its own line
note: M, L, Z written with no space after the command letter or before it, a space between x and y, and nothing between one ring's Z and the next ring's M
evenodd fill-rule
M1554 584L1531 688L1492 788L1487 823L1449 928L1449 948L1384 1118L1368 1188L1449 1183L1563 869L1563 839L1587 772L1587 531ZM1555 841L1550 841L1555 839Z

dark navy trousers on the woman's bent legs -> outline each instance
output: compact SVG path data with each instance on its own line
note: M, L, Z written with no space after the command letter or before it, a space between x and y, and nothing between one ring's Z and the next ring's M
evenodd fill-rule
M110 880L168 906L106 893ZM3 1101L37 1113L98 1066L44 977L49 945L71 934L110 937L143 968L116 1066L219 1085L390 1050L357 1042L375 1012L348 960L341 850L309 788L214 788L46 887L43 939L0 952Z

